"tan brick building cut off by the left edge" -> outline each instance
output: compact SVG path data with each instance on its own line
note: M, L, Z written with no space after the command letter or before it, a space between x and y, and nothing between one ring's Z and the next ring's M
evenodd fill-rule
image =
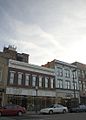
M0 106L5 103L5 92L8 77L8 61L4 57L0 57Z

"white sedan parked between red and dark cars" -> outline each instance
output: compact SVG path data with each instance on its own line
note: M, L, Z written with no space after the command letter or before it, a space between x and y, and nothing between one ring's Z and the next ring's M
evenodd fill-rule
M66 112L68 112L68 108L60 104L53 104L48 108L44 108L40 110L41 114L66 113Z

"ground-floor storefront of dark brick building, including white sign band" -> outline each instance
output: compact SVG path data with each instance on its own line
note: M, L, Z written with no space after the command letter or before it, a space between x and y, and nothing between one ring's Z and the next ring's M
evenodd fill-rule
M26 107L27 110L40 110L53 103L56 100L56 94L53 90L12 88L6 89L7 103L14 103Z

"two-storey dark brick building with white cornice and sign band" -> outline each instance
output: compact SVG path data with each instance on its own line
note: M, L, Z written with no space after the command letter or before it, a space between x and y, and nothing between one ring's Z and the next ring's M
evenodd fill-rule
M53 69L9 60L6 87L7 103L20 104L29 110L39 110L55 103L55 73Z

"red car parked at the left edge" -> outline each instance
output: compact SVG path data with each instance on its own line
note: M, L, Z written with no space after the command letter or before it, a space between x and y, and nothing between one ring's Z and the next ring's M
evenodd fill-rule
M8 104L3 107L0 107L0 116L1 115L19 115L26 113L26 109L19 105Z

